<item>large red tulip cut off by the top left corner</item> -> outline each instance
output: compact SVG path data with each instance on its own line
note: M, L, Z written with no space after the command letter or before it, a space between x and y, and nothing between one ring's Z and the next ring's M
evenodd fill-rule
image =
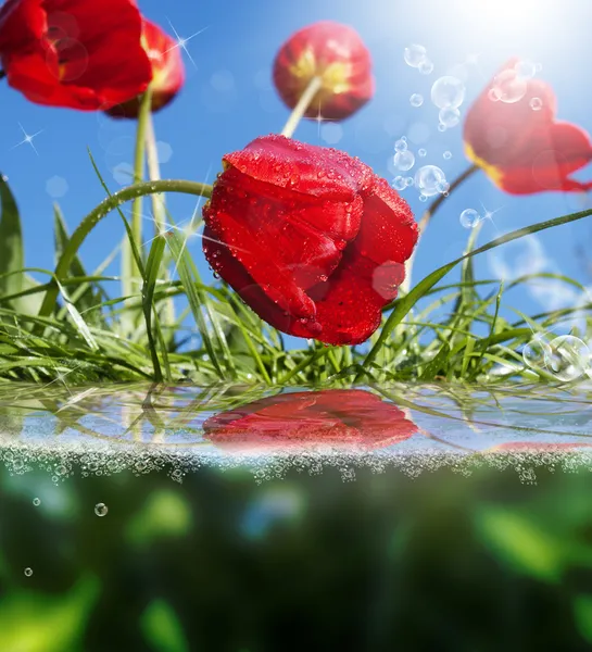
M152 73L134 0L8 0L0 62L10 86L38 104L92 111L146 90Z

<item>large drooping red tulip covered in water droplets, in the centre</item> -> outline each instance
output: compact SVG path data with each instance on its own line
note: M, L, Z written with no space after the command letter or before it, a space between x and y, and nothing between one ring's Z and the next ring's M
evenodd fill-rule
M417 241L407 203L358 159L284 136L223 164L203 209L214 271L284 333L365 341Z

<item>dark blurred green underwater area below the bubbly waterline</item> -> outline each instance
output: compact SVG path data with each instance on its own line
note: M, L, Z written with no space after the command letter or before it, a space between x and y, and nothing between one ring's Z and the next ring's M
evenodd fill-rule
M588 650L590 475L537 473L0 469L0 650Z

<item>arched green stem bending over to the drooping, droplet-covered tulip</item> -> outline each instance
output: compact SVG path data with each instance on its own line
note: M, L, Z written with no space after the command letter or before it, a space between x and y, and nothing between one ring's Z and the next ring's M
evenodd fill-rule
M97 224L121 204L154 192L181 192L185 195L197 195L199 197L212 197L212 186L199 184L198 181L177 179L144 181L128 186L104 199L97 208L90 211L72 234L72 237L55 266L53 280L50 283L50 287L48 288L41 308L39 309L39 316L49 316L52 313L59 293L58 283L67 275L70 265L78 252L78 249Z

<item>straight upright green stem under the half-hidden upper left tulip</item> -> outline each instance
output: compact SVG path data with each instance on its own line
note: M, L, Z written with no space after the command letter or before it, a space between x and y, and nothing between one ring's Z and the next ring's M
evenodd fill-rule
M143 179L144 152L146 152L146 127L150 118L150 109L152 105L152 92L150 88L143 93L140 100L140 112L138 115L138 126L136 128L136 148L134 151L134 184ZM131 233L134 241L142 253L142 199L138 197L131 206ZM122 249L122 291L124 297L130 297L140 289L140 269L131 253L131 244L126 238ZM127 329L131 324L127 325Z

